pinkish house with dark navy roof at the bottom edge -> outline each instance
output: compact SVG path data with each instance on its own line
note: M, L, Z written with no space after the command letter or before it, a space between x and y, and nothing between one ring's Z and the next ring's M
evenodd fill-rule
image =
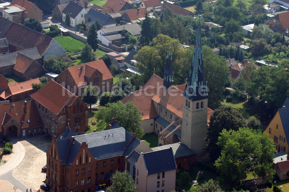
M176 162L172 147L141 153L136 163L139 192L175 190Z

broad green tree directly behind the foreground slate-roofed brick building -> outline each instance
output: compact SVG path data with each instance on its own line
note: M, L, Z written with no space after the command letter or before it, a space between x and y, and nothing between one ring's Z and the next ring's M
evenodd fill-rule
M117 123L124 127L125 130L136 133L138 138L142 138L144 135L143 129L140 128L142 117L133 102L124 104L118 101L116 103L108 103L105 106L106 108L100 108L95 115L97 120L105 122L104 129L108 128L108 123L112 118L116 118Z

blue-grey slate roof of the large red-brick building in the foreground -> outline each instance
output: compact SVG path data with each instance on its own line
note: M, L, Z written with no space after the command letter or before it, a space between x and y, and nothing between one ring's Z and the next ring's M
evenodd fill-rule
M100 132L75 135L72 140L73 144L71 145L69 145L70 138L57 139L57 146L62 164L70 166L76 154L79 152L82 142L86 142L90 153L97 160L101 160L131 153L140 142L134 137L131 143L129 143L131 137L131 133L127 132L123 127L120 127ZM128 146L126 147L126 145ZM131 145L133 145L133 147L130 147Z

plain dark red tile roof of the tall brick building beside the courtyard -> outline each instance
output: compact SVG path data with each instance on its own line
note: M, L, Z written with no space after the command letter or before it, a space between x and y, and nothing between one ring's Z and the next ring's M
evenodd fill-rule
M60 84L50 80L39 91L30 95L30 97L57 115L76 96Z

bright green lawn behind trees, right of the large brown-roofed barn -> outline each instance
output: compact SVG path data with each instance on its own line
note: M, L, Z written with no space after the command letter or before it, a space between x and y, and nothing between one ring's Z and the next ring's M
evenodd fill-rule
M80 49L85 45L80 40L77 40L71 36L57 36L54 39L64 48L66 49L66 54L79 52Z

